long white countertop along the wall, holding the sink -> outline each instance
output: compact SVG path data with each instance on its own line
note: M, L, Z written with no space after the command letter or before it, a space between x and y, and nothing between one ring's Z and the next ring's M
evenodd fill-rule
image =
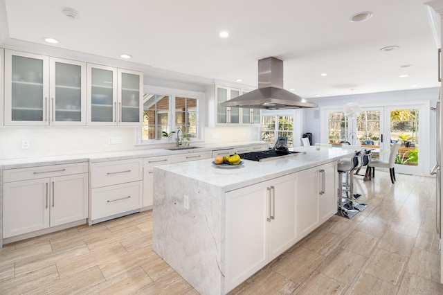
M126 150L116 152L100 152L89 154L66 154L59 156L46 156L46 157L28 157L19 159L1 159L0 168L3 169L16 169L16 168L30 168L38 166L59 165L68 163L80 163L80 162L104 162L104 161L117 161L134 158L147 158L158 157L173 154L187 154L195 152L205 152L208 150L223 150L233 147L247 147L251 145L257 145L261 142L242 142L242 143L195 143L199 148L190 150L167 150L168 147L159 148L140 148L138 150Z

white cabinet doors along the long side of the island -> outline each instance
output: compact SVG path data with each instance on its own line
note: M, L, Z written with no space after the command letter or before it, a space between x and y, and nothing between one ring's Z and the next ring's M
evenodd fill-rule
M229 292L337 211L336 162L226 193Z

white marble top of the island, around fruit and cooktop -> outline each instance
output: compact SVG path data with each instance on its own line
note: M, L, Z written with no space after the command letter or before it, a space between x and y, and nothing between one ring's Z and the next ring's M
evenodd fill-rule
M301 170L336 161L341 158L351 157L353 150L342 150L341 148L322 148L316 150L314 146L294 147L290 150L305 152L293 157L273 159L271 161L244 161L242 166L235 168L221 168L215 166L213 159L203 159L186 163L173 163L154 168L163 172L172 172L202 181L206 184L220 187L225 192L251 186L262 181L289 175Z

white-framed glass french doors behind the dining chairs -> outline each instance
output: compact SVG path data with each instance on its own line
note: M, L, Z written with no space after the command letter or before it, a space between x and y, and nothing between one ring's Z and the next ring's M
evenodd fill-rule
M323 142L360 143L373 147L374 160L388 161L391 143L401 142L395 172L428 175L430 119L429 102L410 102L408 105L388 104L384 107L362 106L357 118L343 118L343 108L323 109ZM336 136L338 134L338 136ZM409 143L404 143L404 137Z

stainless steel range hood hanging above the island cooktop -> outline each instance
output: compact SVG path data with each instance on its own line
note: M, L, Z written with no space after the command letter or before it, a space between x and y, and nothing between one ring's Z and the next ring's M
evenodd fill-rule
M258 89L221 103L222 107L248 109L300 109L318 107L283 89L283 62L275 57L258 61Z

